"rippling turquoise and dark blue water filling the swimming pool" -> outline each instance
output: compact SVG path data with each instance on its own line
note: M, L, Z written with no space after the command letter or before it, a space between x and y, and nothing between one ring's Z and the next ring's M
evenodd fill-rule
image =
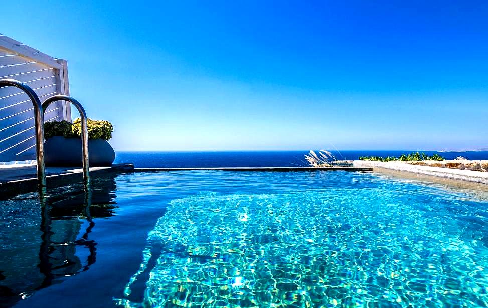
M42 204L0 201L5 306L488 306L480 191L372 172L182 171L107 176Z

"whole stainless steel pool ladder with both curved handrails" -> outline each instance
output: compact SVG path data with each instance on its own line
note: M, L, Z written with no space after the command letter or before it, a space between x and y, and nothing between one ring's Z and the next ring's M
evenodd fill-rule
M28 85L15 79L0 79L0 88L17 87L24 91L31 99L34 107L34 125L36 132L36 161L37 161L37 184L39 188L46 186L46 168L44 164L44 112L49 104L55 101L68 101L75 105L81 117L81 140L83 147L83 179L85 182L90 178L90 167L88 164L88 127L87 118L83 106L74 98L66 95L54 95L46 99L42 104L39 96Z

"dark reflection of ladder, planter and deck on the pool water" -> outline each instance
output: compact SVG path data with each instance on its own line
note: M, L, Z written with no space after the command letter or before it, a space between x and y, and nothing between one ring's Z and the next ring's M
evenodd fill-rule
M95 220L114 215L117 206L114 177L95 181L39 197L21 196L0 208L0 307L13 306L96 262L97 242L90 233Z

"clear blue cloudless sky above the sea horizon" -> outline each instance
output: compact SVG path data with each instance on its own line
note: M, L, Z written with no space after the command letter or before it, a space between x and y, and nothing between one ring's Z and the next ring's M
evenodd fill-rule
M488 148L488 2L16 2L116 150Z

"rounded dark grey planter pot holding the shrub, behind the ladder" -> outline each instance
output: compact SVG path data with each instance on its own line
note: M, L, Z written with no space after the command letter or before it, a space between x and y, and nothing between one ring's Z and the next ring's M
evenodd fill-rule
M88 140L90 167L111 166L115 159L112 146L103 139ZM50 167L81 167L81 138L55 136L44 142L44 159Z

